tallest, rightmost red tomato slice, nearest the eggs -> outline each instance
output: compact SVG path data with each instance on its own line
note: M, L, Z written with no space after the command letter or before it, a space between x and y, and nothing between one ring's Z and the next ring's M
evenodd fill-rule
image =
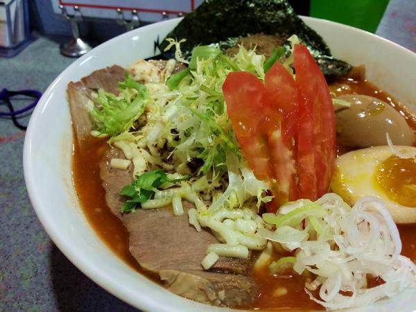
M299 101L297 171L301 198L327 193L336 157L335 114L327 82L306 46L293 51Z

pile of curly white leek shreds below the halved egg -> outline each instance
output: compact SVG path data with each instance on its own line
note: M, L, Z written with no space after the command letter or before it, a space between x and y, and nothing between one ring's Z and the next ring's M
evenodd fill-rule
M268 216L268 220L284 220L288 225L277 227L275 232L260 229L259 234L291 246L291 250L298 246L293 269L299 274L306 270L317 275L305 288L311 300L327 309L346 309L416 287L415 263L400 254L397 226L379 198L366 196L351 208L340 196L329 193L313 203L326 214L303 214L299 219L297 212L306 207L304 204L291 203L282 207L275 219ZM380 277L385 283L367 288L367 275ZM318 288L320 298L311 293Z

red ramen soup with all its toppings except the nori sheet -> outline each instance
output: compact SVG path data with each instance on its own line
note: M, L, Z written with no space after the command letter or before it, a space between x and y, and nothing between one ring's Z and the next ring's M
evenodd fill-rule
M342 309L416 285L413 114L308 49L198 46L69 83L73 181L98 236L168 291ZM260 49L261 50L261 49Z

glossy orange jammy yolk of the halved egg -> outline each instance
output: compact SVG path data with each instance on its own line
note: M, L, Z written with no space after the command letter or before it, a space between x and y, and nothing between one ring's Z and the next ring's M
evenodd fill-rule
M376 182L400 205L416 207L416 159L392 155L376 169Z

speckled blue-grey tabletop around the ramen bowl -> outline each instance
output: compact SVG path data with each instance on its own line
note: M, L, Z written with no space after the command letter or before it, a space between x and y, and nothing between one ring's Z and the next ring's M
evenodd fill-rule
M416 52L416 1L391 0L376 33ZM44 91L73 62L60 55L59 41L40 37L0 59L0 89ZM83 275L44 232L24 184L23 142L24 131L0 118L0 311L134 311Z

